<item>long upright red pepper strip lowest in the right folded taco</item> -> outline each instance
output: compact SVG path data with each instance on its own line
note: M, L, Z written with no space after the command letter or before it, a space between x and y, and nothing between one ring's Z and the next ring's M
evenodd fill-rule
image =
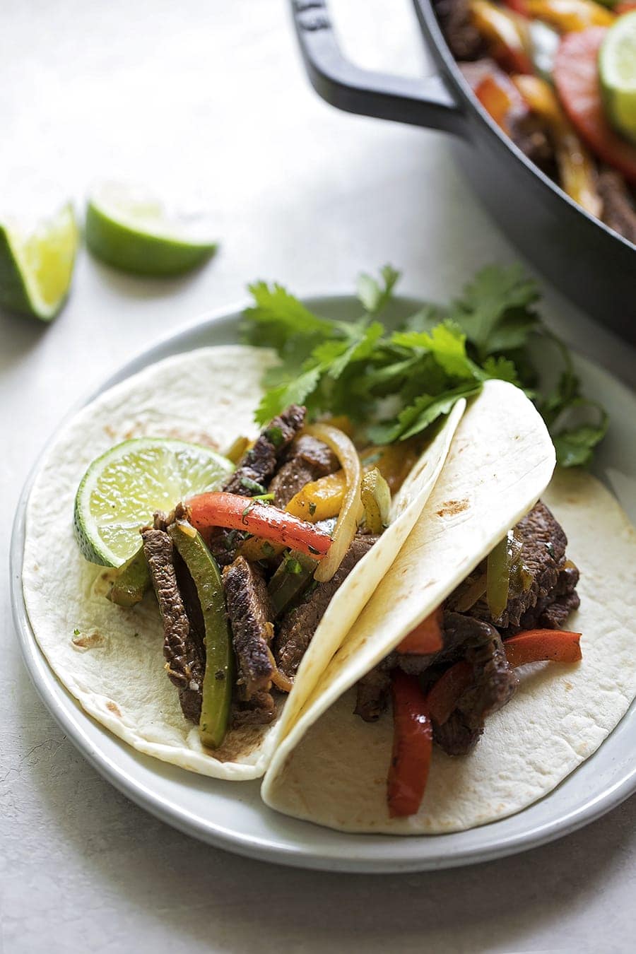
M393 753L387 782L392 819L415 815L420 808L433 751L433 727L426 699L414 675L395 670L393 695Z

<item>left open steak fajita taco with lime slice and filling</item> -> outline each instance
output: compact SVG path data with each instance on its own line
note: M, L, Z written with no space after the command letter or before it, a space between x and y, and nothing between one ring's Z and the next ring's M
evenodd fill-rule
M255 432L272 360L203 348L116 385L51 447L27 514L25 600L55 674L139 751L218 778L263 773L285 702L389 570L465 407L399 447L358 447L297 404Z

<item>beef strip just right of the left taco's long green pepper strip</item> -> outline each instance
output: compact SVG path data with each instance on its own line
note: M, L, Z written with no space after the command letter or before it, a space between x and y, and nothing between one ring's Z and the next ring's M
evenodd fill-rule
M223 570L222 580L238 664L236 685L249 701L269 691L272 682L272 608L260 569L243 556Z

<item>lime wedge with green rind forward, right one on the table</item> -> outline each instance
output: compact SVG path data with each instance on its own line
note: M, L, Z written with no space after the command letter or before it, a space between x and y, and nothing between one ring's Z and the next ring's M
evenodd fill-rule
M178 275L210 259L216 242L200 218L171 217L140 188L106 182L86 209L86 243L96 259L134 275Z

